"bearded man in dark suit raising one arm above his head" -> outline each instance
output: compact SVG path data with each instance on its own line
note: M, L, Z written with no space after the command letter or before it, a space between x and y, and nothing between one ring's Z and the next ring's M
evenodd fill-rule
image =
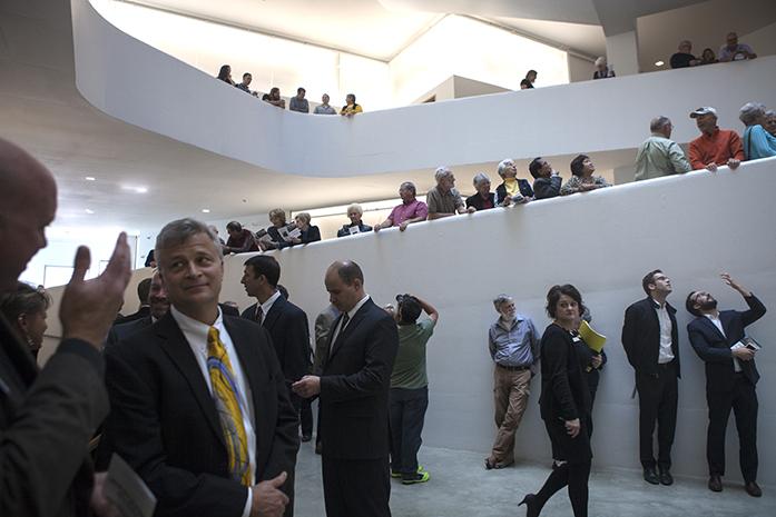
M755 349L741 342L744 328L765 315L765 306L748 289L720 275L723 281L737 290L749 310L717 310L717 300L706 291L687 296L686 308L696 316L687 325L687 334L696 354L706 362L706 401L709 426L706 437L706 458L709 464L708 487L723 490L725 475L725 429L730 409L736 416L740 441L739 460L747 494L760 497L757 485L757 394L755 385L759 372L755 365Z

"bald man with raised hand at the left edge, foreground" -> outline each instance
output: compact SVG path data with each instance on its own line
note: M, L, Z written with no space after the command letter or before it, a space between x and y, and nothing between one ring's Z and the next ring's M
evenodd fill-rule
M51 172L0 139L0 292L16 287L27 262L46 247L57 211ZM99 347L129 282L129 246L121 233L105 272L85 281L89 249L78 248L59 318L62 340L39 369L0 317L0 515L108 515L104 475L87 456L89 439L108 414Z

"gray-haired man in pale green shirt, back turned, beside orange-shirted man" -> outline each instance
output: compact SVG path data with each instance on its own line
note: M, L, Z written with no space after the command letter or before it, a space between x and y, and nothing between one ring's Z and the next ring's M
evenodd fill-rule
M660 178L689 172L692 168L685 151L671 140L674 125L668 117L655 117L649 123L652 135L641 143L636 153L635 180Z

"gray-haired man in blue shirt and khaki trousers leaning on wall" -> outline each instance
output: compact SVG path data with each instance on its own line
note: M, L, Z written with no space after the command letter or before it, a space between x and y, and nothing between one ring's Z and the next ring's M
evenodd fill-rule
M488 331L488 349L493 359L493 402L499 430L485 468L509 467L514 463L514 434L528 407L531 378L539 365L540 335L531 318L518 314L511 296L493 300L499 319Z

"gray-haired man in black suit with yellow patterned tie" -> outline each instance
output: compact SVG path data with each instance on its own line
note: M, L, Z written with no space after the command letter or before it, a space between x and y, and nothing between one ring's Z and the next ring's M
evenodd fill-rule
M204 223L169 222L155 250L170 310L106 350L114 450L157 517L291 515L296 414L267 334L223 316L224 262Z

